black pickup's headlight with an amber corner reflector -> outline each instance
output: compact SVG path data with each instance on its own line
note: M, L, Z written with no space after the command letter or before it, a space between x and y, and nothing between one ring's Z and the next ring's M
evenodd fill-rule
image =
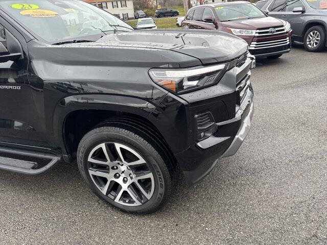
M225 65L188 69L150 69L153 82L175 93L212 86L223 75Z

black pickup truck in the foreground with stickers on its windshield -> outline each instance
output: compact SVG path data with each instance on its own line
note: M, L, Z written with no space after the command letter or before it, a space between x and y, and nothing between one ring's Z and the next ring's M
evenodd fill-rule
M99 197L150 213L249 131L255 59L231 34L134 31L82 1L31 0L0 2L0 36L0 169L77 159Z

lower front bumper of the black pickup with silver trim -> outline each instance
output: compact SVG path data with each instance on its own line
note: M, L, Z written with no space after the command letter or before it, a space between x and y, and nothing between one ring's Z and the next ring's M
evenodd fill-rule
M216 124L216 134L175 155L177 160L182 159L185 161L189 159L190 162L196 160L198 163L197 167L190 169L190 171L182 169L185 181L189 186L194 185L208 175L218 163L219 158L232 156L238 151L251 127L254 112L252 99L253 92L250 87L235 117L218 122Z

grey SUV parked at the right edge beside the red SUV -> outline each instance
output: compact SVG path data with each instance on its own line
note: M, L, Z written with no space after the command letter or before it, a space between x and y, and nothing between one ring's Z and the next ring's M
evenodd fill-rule
M316 52L327 46L326 0L263 0L256 6L269 16L288 21L292 40L302 42L307 51Z

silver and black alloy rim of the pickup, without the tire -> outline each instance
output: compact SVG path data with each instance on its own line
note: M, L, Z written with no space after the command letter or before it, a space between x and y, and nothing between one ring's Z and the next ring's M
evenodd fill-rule
M125 144L98 144L88 155L87 167L96 187L116 203L139 206L153 195L154 177L148 163Z

